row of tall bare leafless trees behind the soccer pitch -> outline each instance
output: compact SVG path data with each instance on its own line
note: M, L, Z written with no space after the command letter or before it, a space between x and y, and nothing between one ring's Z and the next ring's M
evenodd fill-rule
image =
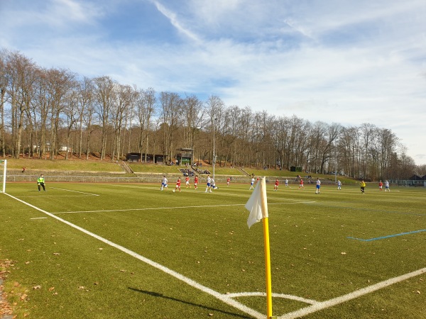
M345 127L226 106L219 96L157 92L39 67L20 52L0 50L0 155L121 160L127 153L164 155L192 148L195 161L217 165L339 172L363 179L426 174L387 128ZM214 154L213 154L214 153ZM144 158L142 158L144 160Z

